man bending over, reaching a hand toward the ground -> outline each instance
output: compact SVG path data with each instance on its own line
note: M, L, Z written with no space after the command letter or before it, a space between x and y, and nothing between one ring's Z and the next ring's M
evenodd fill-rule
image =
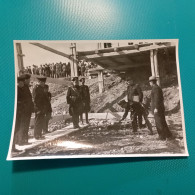
M118 105L120 105L122 108L125 109L125 113L120 121L124 120L127 117L128 112L130 111L131 112L131 125L133 128L133 132L136 132L137 131L137 115L141 113L144 116L145 123L150 131L149 134L153 135L152 125L150 121L148 120L144 107L142 107L139 102L128 103L125 100L122 100L118 103Z

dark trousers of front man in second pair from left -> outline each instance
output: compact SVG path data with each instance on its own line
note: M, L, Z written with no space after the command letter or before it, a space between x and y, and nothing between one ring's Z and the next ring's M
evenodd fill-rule
M35 127L34 127L34 137L40 138L42 136L42 130L45 126L45 114L39 113L35 114Z

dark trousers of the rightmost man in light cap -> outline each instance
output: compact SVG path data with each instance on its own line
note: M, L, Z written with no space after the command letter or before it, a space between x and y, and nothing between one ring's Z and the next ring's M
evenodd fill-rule
M171 132L168 128L167 122L165 120L164 112L154 113L154 119L155 119L156 129L157 129L157 132L159 134L159 137L162 139L171 137L172 134L171 134Z

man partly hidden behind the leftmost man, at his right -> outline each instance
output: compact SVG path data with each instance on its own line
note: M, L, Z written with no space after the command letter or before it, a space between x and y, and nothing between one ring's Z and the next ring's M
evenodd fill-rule
M24 135L23 135L23 143L24 144L29 144L28 143L28 131L29 131L29 126L30 126L30 119L32 112L34 112L34 104L32 101L32 94L30 92L30 77L31 75L25 74L25 80L24 80L24 119L22 126L24 128Z

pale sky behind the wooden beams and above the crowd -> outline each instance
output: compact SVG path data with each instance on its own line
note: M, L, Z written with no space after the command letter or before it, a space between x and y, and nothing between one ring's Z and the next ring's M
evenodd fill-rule
M47 41L37 41L43 45L56 49L58 51L64 52L66 54L71 54L70 42L47 42ZM110 41L104 41L110 42ZM128 45L128 40L120 41L120 46ZM112 45L118 46L117 43ZM44 50L38 46L32 45L29 42L21 41L22 53L25 55L23 57L24 67L34 65L40 65L45 63L56 63L56 62L69 62L69 60L63 56L57 55L50 51ZM103 46L103 45L102 45ZM77 51L88 51L97 49L97 42L80 42L76 43Z

